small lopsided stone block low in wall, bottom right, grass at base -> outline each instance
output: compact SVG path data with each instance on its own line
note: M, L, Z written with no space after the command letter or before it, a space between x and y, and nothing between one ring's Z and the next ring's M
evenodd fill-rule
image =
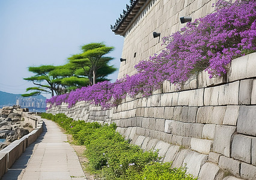
M233 158L228 158L222 155L219 157L219 167L228 170L234 176L239 176L240 162Z

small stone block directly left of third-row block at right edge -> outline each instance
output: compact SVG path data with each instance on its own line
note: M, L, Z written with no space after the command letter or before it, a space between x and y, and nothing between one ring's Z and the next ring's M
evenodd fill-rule
M227 106L223 124L236 125L240 106Z

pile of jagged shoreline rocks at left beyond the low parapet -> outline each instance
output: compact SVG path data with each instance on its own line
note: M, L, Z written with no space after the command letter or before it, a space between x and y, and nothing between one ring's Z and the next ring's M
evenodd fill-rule
M31 124L23 121L21 114L25 111L27 109L21 109L20 106L0 109L0 139L5 139L5 142L0 143L0 150L33 130Z

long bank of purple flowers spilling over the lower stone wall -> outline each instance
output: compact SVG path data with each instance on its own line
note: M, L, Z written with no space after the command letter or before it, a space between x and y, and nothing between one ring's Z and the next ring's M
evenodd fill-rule
M256 51L256 1L218 1L215 13L195 20L163 38L165 49L139 62L136 74L76 89L47 100L49 104L90 101L105 109L120 104L126 95L150 95L163 81L180 84L202 70L210 78L225 74L231 60Z

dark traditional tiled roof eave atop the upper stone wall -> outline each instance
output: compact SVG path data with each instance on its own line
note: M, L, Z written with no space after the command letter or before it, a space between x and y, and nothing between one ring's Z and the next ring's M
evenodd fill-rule
M126 10L123 10L123 14L115 22L115 25L110 25L115 34L124 35L124 30L136 16L140 8L147 2L147 0L130 0L130 5L126 4Z

